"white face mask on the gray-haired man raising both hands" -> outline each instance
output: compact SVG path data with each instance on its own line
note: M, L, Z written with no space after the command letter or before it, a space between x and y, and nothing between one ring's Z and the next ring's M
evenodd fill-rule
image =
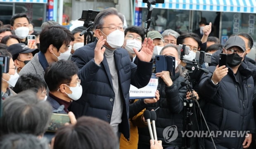
M106 36L106 34L104 35ZM121 30L115 30L114 32L111 32L109 35L107 35L107 43L112 48L120 48L121 46L123 46L123 42L124 32L122 32Z

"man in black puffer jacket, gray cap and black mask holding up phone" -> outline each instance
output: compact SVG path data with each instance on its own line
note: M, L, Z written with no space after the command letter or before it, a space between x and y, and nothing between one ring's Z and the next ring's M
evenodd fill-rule
M254 80L251 69L242 62L248 50L242 38L232 36L225 44L227 66L209 66L199 83L199 95L206 101L204 116L210 131L221 132L213 140L217 149L248 148L251 133L255 132L253 114ZM213 62L213 61L212 61ZM236 132L235 137L224 135L230 131L246 132L248 137ZM213 149L210 138L205 138L205 148Z

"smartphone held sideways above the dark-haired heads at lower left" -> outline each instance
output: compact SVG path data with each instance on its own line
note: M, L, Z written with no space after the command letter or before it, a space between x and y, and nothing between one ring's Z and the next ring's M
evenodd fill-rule
M70 123L69 115L61 113L52 113L48 132L56 132L65 123Z

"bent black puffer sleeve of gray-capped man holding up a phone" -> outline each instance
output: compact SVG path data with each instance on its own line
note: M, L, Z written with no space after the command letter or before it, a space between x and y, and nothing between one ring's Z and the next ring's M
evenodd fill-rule
M209 69L209 73L201 76L199 80L199 95L203 97L204 99L212 99L214 95L216 95L219 84L215 85L211 81L211 76L213 75L213 71L215 70L215 66L209 66L207 69Z

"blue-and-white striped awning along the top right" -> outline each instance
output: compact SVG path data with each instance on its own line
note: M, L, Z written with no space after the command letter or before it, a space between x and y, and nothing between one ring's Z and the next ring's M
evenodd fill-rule
M137 1L137 7L147 7L147 3L143 3L142 0ZM152 7L256 14L256 0L165 0L164 4L156 4Z

